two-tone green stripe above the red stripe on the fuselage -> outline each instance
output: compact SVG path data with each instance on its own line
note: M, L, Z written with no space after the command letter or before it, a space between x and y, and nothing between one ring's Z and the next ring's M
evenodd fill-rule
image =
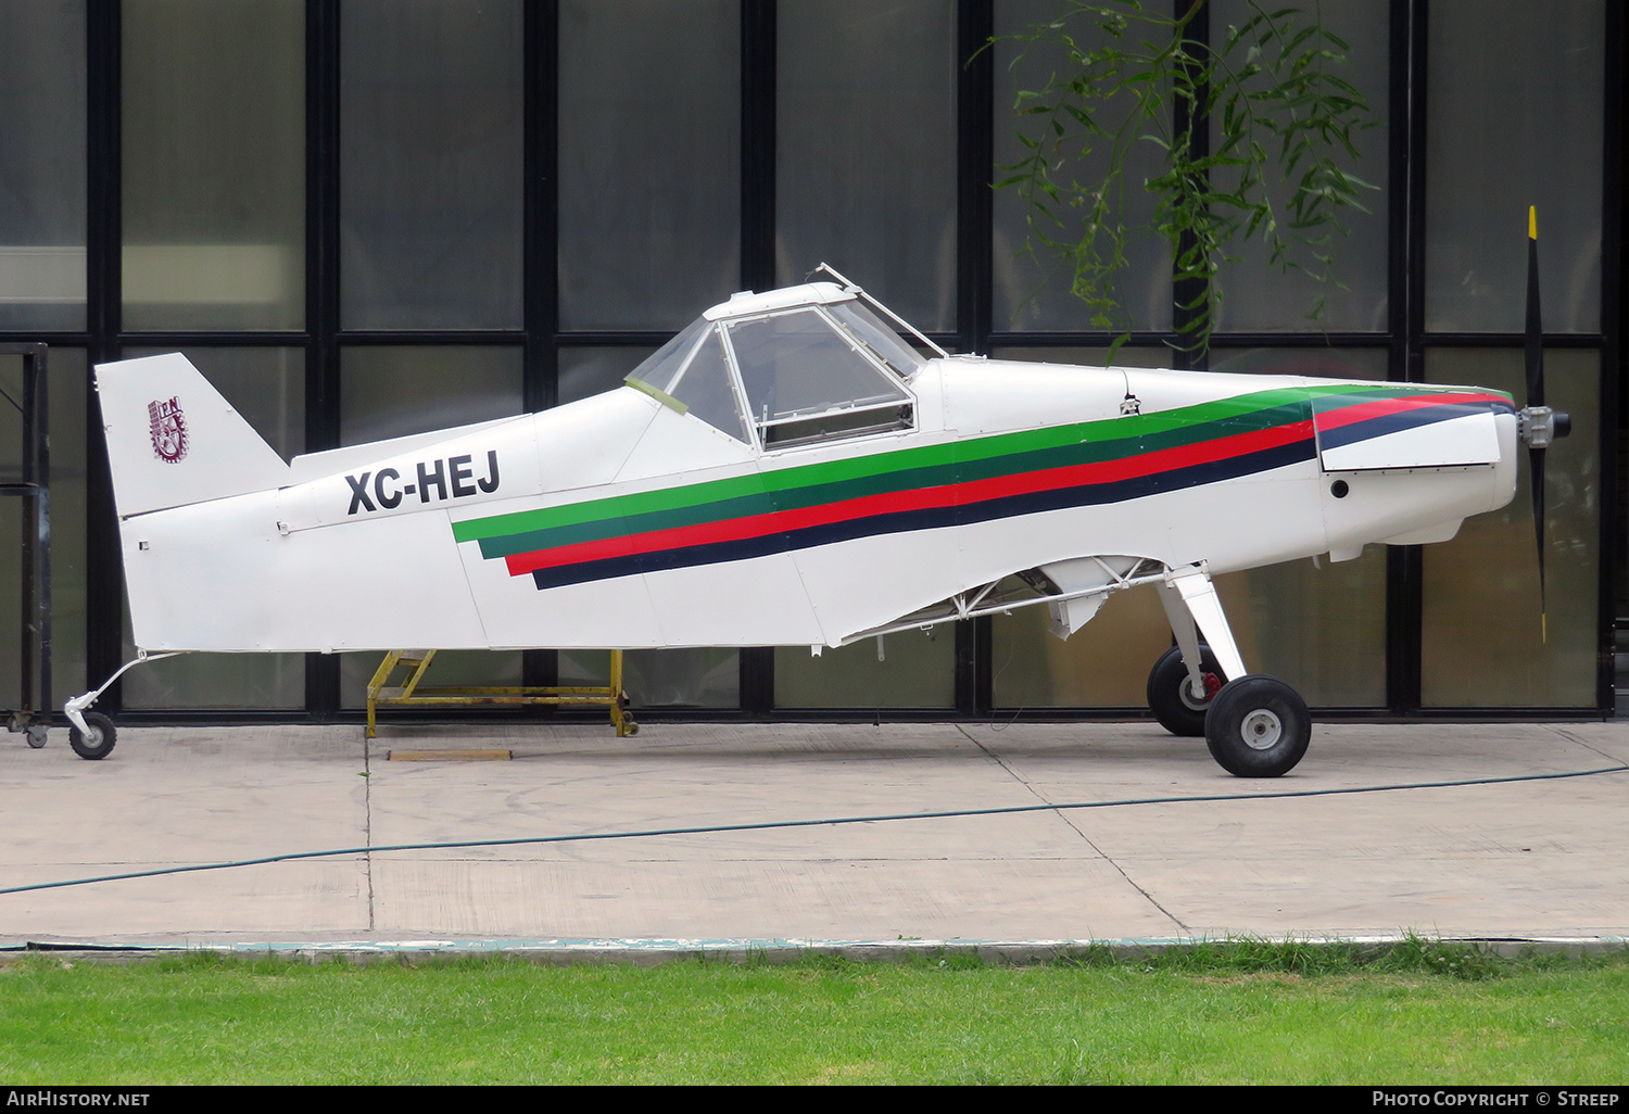
M1386 388L1365 383L1258 391L1158 414L997 433L634 495L613 495L565 507L494 515L454 523L453 536L459 542L481 541L484 557L503 557L617 534L746 518L772 510L814 507L881 492L938 487L1192 445L1305 420L1310 417L1313 394L1406 396L1425 389L1429 388L1417 384ZM1129 450L1126 441L1139 445Z

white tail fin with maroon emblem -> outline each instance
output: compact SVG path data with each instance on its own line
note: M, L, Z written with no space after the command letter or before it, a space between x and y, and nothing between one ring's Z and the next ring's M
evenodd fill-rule
M121 518L280 487L288 466L179 352L96 365Z

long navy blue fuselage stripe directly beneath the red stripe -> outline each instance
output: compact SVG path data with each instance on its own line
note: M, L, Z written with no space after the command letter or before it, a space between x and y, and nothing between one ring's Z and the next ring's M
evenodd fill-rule
M1108 484L1083 484L1080 487L1062 487L1051 492L1030 492L1026 495L1005 495L981 503L961 507L932 507L924 510L894 511L889 515L873 515L870 518L854 518L841 523L810 526L761 537L743 537L740 541L686 546L683 549L663 549L653 554L629 554L627 557L608 557L559 568L538 568L531 577L538 588L564 588L591 580L611 580L613 577L634 577L647 572L666 572L670 568L694 568L697 565L715 565L727 560L749 560L771 554L792 552L797 549L813 549L831 546L832 542L852 541L855 537L873 537L878 534L899 534L915 529L942 529L968 523L987 523L1000 518L1016 518L1020 515L1039 515L1043 511L1067 510L1072 507L1100 507L1103 503L1122 503L1131 498L1175 492L1184 487L1199 487L1220 480L1253 476L1289 464L1300 464L1316 456L1311 438L1280 445L1259 453L1230 456L1209 464L1158 472L1155 476L1137 476Z

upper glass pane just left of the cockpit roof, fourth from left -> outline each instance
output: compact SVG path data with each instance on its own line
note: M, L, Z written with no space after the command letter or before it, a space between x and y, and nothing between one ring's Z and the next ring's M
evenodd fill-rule
M560 3L564 329L678 329L740 288L740 5Z

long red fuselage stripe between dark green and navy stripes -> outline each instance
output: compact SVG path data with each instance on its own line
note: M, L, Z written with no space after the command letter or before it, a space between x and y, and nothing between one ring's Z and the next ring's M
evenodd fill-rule
M629 557L632 554L653 554L687 546L702 546L725 541L741 541L746 537L762 537L764 534L806 529L810 526L826 526L829 523L849 521L854 518L872 518L907 510L929 510L942 507L958 507L984 503L1008 495L1028 495L1033 492L1051 492L1060 487L1087 487L1091 484L1113 484L1116 480L1170 472L1194 464L1209 464L1230 456L1245 456L1262 450L1303 441L1313 435L1311 422L1290 422L1271 430L1251 430L1232 436L1218 436L1197 445L1179 445L1155 453L1140 453L1117 461L1095 461L1090 464L1069 464L1039 472L1018 472L1015 476L994 476L966 484L945 484L942 487L920 487L906 492L886 492L881 495L862 495L837 503L819 507L801 507L797 510L771 511L749 518L733 518L722 523L700 523L696 526L674 526L671 529L653 529L627 537L603 537L575 546L557 546L539 549L529 554L513 554L503 560L508 564L512 577L529 573L534 568L559 568L560 565L577 565L590 560L606 560L609 557Z

